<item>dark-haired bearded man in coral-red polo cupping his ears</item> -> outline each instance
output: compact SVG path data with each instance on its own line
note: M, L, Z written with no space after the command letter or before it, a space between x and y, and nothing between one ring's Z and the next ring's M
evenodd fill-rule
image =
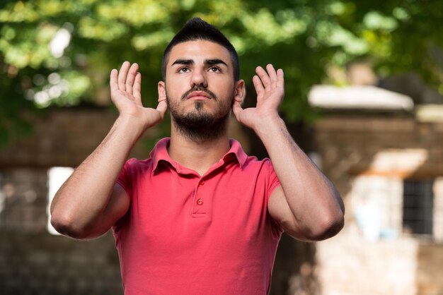
M142 106L137 70L125 61L111 71L120 116L51 206L62 234L88 239L113 229L125 294L267 294L282 231L304 241L340 231L340 195L278 115L281 69L257 68L257 106L242 109L234 47L193 18L163 54L156 109ZM167 108L171 138L149 159L125 162ZM231 110L270 159L248 157L229 140Z

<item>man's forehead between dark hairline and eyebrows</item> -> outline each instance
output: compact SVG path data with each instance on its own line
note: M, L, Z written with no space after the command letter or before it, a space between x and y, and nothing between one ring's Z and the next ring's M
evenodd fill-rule
M168 66L177 59L192 59L195 63L205 59L222 59L232 66L229 50L218 43L207 40L193 40L176 44L169 53Z

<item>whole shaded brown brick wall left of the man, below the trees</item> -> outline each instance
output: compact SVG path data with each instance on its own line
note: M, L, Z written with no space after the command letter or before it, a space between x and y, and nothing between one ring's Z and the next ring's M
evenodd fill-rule
M54 112L35 121L33 137L0 151L0 294L122 294L111 233L75 241L47 231L47 169L78 165L114 119Z

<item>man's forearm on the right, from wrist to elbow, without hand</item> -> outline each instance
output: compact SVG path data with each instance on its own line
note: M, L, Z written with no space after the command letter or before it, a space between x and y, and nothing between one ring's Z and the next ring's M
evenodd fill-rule
M306 231L340 227L344 206L340 194L290 136L279 116L263 118L255 132L262 140L282 185L294 219Z

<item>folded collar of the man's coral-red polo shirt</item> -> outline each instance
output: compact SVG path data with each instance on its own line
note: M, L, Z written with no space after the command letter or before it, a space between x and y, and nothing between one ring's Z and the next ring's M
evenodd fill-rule
M156 171L160 161L168 162L174 168L178 168L178 163L171 159L168 154L168 147L170 142L171 138L162 138L161 140L159 140L158 143L156 143L155 147L149 154L154 164L154 171ZM240 167L243 167L243 164L245 164L248 155L246 155L246 152L244 152L243 148L241 148L241 144L238 143L237 140L230 139L229 145L231 146L231 148L228 152L226 152L222 159L224 159L224 161L226 162L229 157L231 157L231 155L234 155L237 159L238 164L240 164Z

